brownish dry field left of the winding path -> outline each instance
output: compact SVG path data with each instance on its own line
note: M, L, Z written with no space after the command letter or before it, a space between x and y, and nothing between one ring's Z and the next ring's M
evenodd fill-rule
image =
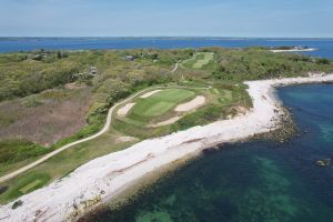
M24 105L27 98L0 103L0 139L51 145L84 127L89 88L47 90L34 98L39 102L36 107Z

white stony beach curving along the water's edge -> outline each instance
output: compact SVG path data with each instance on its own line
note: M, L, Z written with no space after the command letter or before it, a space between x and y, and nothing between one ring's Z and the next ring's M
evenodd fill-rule
M78 168L68 178L27 194L23 204L0 206L2 221L77 220L74 214L114 200L148 173L182 160L218 143L236 141L278 129L284 114L274 88L332 82L333 74L245 82L253 108L245 115L195 127L167 137L142 141L131 148L95 159ZM6 216L6 218L4 218Z

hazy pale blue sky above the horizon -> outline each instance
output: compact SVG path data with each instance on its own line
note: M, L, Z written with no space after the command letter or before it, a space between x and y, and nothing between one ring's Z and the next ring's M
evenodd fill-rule
M333 0L0 0L2 37L333 37Z

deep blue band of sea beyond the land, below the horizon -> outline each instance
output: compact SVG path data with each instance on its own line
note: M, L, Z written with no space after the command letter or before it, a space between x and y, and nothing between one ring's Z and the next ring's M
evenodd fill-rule
M134 48L199 48L199 47L279 47L302 46L316 48L319 51L306 52L314 57L333 59L333 39L159 39L159 38L2 38L0 52L48 50L85 50L85 49L134 49Z

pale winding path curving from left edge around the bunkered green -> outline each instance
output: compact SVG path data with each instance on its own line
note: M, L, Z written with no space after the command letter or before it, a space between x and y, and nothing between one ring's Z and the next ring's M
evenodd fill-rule
M151 91L151 90L158 90L158 89L193 89L193 90L196 89L196 90L208 90L208 89L211 89L211 88L212 88L212 87L206 87L206 88L191 88L191 87L154 87L154 88L149 88L149 89L142 90L142 91L140 91L140 92L137 92L137 93L132 94L131 97L127 98L125 100L123 100L123 101L121 101L121 102L119 102L119 103L115 103L112 108L110 108L110 110L109 110L109 112L108 112L108 115L107 115L107 122L105 122L103 129L102 129L101 131L99 131L98 133L95 133L95 134L93 134L93 135L90 135L90 137L88 137L88 138L84 138L84 139L82 139L82 140L78 140L78 141L71 142L71 143L69 143L69 144L67 144L67 145L63 145L63 147L61 147L61 148L59 148L59 149L57 149L57 150L54 150L54 151L52 151L52 152L46 154L46 155L42 157L41 159L39 159L39 160L37 160L37 161L34 161L34 162L32 162L32 163L30 163L30 164L28 164L28 165L26 165L26 167L23 167L23 168L20 168L19 170L16 170L16 171L13 171L13 172L7 174L7 175L1 176L1 178L0 178L0 183L3 183L3 182L6 182L6 181L8 181L8 180L10 180L10 179L12 179L12 178L14 178L14 176L17 176L17 175L23 173L23 172L26 172L26 171L28 171L28 170L30 170L30 169L37 167L37 165L41 164L42 162L49 160L50 158L57 155L58 153L60 153L60 152L62 152L62 151L64 151L64 150L67 150L67 149L69 149L69 148L72 148L72 147L74 147L74 145L77 145L77 144L80 144L80 143L83 143L83 142L93 140L93 139L95 139L95 138L102 135L103 133L105 133L105 132L109 130L109 128L110 128L110 125L111 125L113 111L114 111L117 108L119 108L119 107L125 104L127 102L131 101L132 99L134 99L135 97L138 97L138 95L140 95L140 94L142 94L142 93L144 93L144 92L148 92L148 91Z

